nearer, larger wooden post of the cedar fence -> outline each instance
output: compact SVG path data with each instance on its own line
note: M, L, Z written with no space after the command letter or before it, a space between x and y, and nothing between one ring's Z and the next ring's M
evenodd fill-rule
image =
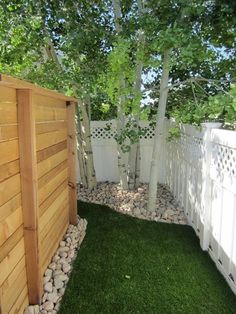
M42 295L42 274L39 258L37 160L32 90L17 89L17 105L28 295L30 304L38 304Z

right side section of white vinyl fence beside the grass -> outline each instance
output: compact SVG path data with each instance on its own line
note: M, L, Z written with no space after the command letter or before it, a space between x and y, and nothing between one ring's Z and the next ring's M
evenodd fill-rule
M182 126L164 160L166 184L236 293L236 132Z

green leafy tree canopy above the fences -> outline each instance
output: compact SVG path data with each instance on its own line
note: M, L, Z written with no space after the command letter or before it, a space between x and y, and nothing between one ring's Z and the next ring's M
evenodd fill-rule
M134 92L136 64L143 64L143 89L159 98L162 54L171 49L168 110L208 101L235 79L236 4L229 0L121 1L121 32L112 1L3 0L0 3L0 71L49 88L91 98L93 119L116 116L118 94L126 114L140 110ZM145 36L140 46L140 36ZM55 58L56 56L56 58ZM119 90L120 73L126 84ZM146 77L153 76L151 82ZM216 81L180 84L190 77ZM155 114L147 104L141 117Z

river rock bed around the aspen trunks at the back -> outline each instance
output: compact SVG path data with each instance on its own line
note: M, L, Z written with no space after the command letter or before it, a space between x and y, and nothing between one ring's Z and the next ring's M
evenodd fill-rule
M137 190L124 191L117 183L98 183L92 191L78 186L78 199L84 202L102 204L133 217L187 224L183 210L178 206L166 186L158 185L156 210L147 211L148 185L141 184Z

